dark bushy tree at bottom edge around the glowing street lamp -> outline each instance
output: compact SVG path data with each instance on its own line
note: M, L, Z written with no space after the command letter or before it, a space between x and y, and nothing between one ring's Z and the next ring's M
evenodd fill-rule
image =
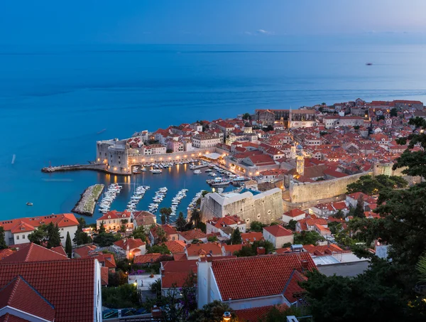
M212 301L201 309L193 311L187 318L187 322L222 322L225 312L231 313L230 322L237 322L236 315L229 304L222 301Z

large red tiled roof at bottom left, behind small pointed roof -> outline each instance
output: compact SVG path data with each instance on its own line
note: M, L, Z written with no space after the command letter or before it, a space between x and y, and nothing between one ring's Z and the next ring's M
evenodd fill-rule
M21 276L55 307L56 322L94 318L94 259L0 265L0 288Z

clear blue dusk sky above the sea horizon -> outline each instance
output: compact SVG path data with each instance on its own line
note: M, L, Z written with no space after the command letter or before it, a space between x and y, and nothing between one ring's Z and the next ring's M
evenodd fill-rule
M420 35L425 12L425 0L2 0L0 43L280 43L298 35Z

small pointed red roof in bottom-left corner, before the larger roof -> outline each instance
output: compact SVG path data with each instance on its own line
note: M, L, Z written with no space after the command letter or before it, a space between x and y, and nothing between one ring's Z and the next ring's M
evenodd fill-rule
M47 321L55 320L53 305L20 276L15 277L3 289L0 289L0 310L5 306Z

